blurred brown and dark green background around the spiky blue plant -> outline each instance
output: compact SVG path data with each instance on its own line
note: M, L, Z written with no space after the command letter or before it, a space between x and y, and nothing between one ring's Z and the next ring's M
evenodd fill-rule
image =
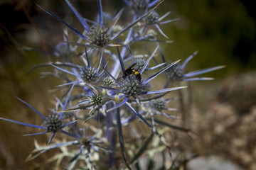
M55 21L36 4L48 8L60 18L82 30L77 18L62 0L0 1L0 117L40 124L41 119L16 97L41 111L53 107L53 94L58 85L53 78L39 79L48 68L29 70L49 62L42 52L24 50L32 47L53 52L63 40L62 23ZM188 148L203 157L217 155L244 169L256 169L256 13L249 0L166 0L157 12L171 11L168 19L178 21L161 26L174 42L163 45L169 60L185 60L194 51L198 55L188 63L188 70L225 65L224 69L203 77L214 81L191 82L193 103L189 128L197 132ZM95 19L94 0L74 0L72 4L85 18ZM119 11L124 2L102 0L103 9ZM123 20L129 20L122 16ZM161 37L164 39L164 37ZM23 137L33 129L0 121L0 169L33 169L35 162L24 162L34 149L33 138ZM48 137L38 136L39 142Z

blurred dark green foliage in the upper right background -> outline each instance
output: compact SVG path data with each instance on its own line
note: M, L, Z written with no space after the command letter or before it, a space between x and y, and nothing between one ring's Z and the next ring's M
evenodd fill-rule
M223 72L255 69L256 23L242 1L174 0L166 3L168 5L161 7L170 8L170 16L180 18L165 30L174 40L166 47L170 57L184 58L198 50L198 56L190 63L193 68L224 64L227 69L218 72L222 75L225 75Z

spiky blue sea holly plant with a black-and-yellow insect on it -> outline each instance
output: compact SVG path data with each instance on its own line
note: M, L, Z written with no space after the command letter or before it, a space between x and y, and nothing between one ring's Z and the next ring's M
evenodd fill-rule
M45 116L18 98L43 118L41 125L0 118L43 130L30 135L51 133L48 145L35 142L36 149L27 160L59 148L60 152L56 151L46 162L56 161L61 166L63 158L67 157L69 163L65 169L139 169L140 159L147 151L154 152L159 147L161 149L157 152L164 155L167 151L171 155L172 144L164 132L169 129L190 132L186 127L171 123L181 116L178 107L169 107L176 100L170 94L186 89L186 86L176 86L174 82L211 80L194 77L223 66L187 73L183 69L197 52L184 62L169 62L164 57L159 42L170 41L166 40L168 37L160 26L176 19L163 21L170 12L159 16L157 10L163 0L124 0L127 7L117 9L117 13L107 13L102 1L97 0L95 20L84 18L86 11L78 11L72 1L63 1L80 21L82 30L73 28L37 4L70 30L70 33L65 30L63 40L55 48L55 60L33 67L48 66L50 71L44 72L43 77L60 79L61 83L55 87L59 90L54 94L55 105ZM121 25L119 19L124 10L130 10L131 21ZM70 41L68 37L72 34L73 41ZM146 47L144 41L150 42L151 47ZM136 54L134 45L139 47L141 55ZM146 129L145 132L140 128ZM55 137L56 132L60 132L58 137ZM160 141L156 142L157 146L154 139ZM177 165L175 161L172 164Z

